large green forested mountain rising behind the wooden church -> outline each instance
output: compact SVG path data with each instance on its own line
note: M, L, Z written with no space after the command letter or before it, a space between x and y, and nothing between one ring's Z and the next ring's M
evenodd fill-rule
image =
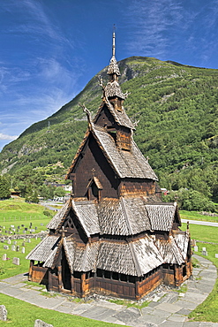
M209 185L202 193L216 196L218 71L152 57L129 57L118 65L121 88L130 92L124 108L138 124L134 139L150 158L161 186L189 186L192 178L196 185L202 180ZM106 83L107 67L98 75ZM60 162L67 169L87 126L79 103L85 103L94 117L101 104L97 76L70 103L6 145L0 171L15 174L27 164L35 168Z

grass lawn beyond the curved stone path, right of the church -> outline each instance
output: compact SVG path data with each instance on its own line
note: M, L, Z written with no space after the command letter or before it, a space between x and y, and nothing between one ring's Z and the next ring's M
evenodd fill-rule
M186 229L186 224L183 224L182 229ZM192 239L206 242L196 242L196 245L199 247L199 252L195 252L195 254L201 255L202 247L206 247L208 255L204 257L213 262L218 270L218 258L215 258L215 254L218 254L218 227L191 224L190 232ZM207 242L216 244L208 244ZM218 278L216 279L213 291L203 303L192 311L189 318L192 319L192 321L218 323Z

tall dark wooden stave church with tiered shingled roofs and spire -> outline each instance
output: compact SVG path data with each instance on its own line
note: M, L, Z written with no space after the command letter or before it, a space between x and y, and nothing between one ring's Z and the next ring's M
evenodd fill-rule
M67 174L71 199L26 256L29 280L49 291L101 293L139 300L161 284L192 274L190 234L179 229L177 203L161 201L157 177L132 135L113 53L109 81Z

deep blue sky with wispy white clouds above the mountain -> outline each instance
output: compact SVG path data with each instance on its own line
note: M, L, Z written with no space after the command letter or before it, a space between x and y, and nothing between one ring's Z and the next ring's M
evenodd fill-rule
M218 0L1 0L0 150L131 56L218 68Z

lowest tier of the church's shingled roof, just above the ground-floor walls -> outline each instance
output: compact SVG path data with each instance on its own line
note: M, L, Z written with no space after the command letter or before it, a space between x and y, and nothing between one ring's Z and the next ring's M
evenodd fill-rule
M177 245L177 236L174 238L172 235L168 240L154 240L145 235L130 242L97 240L84 245L77 244L71 236L61 239L48 235L26 259L44 262L43 267L53 267L56 254L64 247L71 273L101 269L140 277L164 262L180 265L185 261L188 239L185 232L179 235L185 238L182 251Z

